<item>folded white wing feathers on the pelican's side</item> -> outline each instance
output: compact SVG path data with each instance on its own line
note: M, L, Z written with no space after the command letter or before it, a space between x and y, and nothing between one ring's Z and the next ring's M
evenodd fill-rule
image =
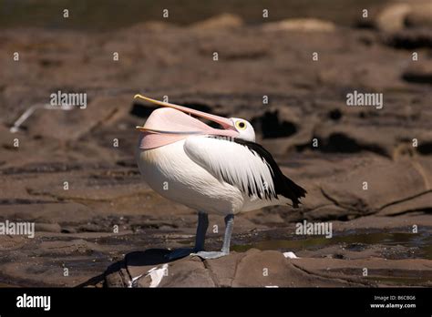
M255 151L229 138L190 137L184 143L184 151L216 179L229 180L246 194L249 190L254 196L274 192L270 165Z

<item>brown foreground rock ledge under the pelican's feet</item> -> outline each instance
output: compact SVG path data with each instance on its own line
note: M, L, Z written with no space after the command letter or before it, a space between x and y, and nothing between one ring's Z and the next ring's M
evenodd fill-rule
M145 256L141 253L134 257ZM155 278L151 278L148 271L155 266L140 266L137 271L128 258L125 262L121 270L108 272L105 286L149 287ZM351 261L286 259L278 251L251 249L216 260L190 257L171 262L157 287L364 287L400 283L431 286L430 264L427 260L388 261L373 255ZM156 266L157 269L161 267Z

